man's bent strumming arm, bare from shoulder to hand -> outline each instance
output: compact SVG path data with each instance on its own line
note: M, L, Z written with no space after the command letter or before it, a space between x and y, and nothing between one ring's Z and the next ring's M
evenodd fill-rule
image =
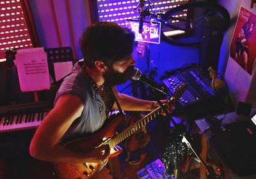
M36 159L49 162L102 162L108 156L101 151L108 147L93 150L90 154L74 152L58 145L68 127L81 116L83 103L79 97L64 94L58 99L56 106L44 118L30 144L29 152Z

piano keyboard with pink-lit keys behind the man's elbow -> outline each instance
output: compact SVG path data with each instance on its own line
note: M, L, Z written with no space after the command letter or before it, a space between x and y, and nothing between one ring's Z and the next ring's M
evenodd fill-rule
M32 129L41 124L51 110L48 101L0 107L0 132Z

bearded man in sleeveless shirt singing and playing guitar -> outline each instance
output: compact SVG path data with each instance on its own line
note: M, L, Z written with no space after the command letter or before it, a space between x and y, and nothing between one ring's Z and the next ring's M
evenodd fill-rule
M132 76L136 64L131 56L133 43L134 34L113 22L99 22L83 32L81 51L84 58L65 77L56 94L54 108L36 130L29 148L32 157L55 164L70 163L69 167L74 171L79 171L74 165L76 163L91 169L93 167L86 166L84 162L99 164L95 171L92 169L92 175L86 171L81 176L67 172L71 179L124 178L118 172L120 170L113 169L113 166L118 166L113 162L115 157L109 159L112 165L108 165L113 169L111 172L116 171L113 176L109 168L104 167L110 155L108 144L81 151L81 148L77 149L79 147L67 147L61 143L97 132L105 121L110 120L109 113L118 109L116 100L126 111L152 111L159 106L154 101L120 94L115 88L115 85L125 83ZM116 100L111 94L115 94ZM166 100L161 102L166 103ZM87 142L92 141L84 141L79 146Z

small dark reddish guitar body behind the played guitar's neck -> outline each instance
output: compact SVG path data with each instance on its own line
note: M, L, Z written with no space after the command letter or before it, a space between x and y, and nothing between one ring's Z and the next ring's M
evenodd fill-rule
M129 113L129 115L126 117L127 127L138 122L140 118L141 112L136 111ZM129 138L127 138L125 147L128 152L137 152L145 148L149 141L150 135L146 129L146 125L144 125L140 130L134 132Z

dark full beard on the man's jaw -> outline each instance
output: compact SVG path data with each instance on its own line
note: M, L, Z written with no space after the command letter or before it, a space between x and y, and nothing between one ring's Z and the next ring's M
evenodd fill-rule
M113 68L109 68L106 73L103 74L105 82L113 87L116 85L122 85L132 78L134 75L134 66L129 66L124 73L120 73Z

